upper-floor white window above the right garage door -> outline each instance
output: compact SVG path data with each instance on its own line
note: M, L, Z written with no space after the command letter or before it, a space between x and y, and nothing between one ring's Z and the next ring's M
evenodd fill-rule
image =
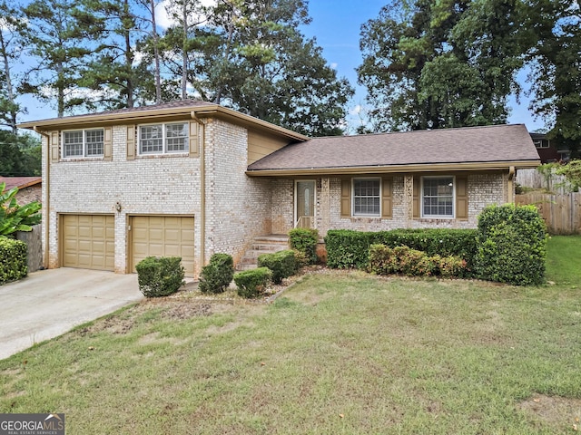
M165 154L189 150L188 123L141 125L139 153Z

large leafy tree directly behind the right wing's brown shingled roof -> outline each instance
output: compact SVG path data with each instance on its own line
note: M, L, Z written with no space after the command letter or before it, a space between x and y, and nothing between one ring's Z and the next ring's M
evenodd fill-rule
M522 65L517 0L394 0L361 28L373 130L507 120Z

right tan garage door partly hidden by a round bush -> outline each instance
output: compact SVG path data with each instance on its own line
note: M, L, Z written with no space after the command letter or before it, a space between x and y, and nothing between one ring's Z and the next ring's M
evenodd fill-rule
M186 275L193 275L193 218L136 216L131 231L133 272L146 256L181 256Z

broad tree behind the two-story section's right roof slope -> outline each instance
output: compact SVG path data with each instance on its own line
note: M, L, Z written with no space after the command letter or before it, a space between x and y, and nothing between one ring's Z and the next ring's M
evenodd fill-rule
M353 91L297 30L310 22L305 1L220 0L209 17L192 31L188 72L203 99L310 135L342 132Z

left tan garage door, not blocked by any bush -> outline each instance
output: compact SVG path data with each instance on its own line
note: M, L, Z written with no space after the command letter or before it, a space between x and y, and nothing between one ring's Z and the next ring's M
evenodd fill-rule
M62 215L63 266L114 269L114 217Z

